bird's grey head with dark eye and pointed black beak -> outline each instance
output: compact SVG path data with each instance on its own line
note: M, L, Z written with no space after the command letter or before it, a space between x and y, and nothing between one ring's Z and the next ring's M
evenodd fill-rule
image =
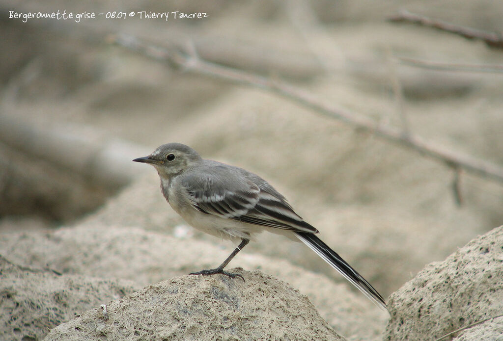
M157 147L149 156L134 159L135 162L151 164L161 178L171 178L201 162L199 154L181 143L168 143Z

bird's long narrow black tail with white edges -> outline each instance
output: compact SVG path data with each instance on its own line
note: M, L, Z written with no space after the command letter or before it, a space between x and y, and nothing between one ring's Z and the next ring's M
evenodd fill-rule
M316 235L312 233L296 232L297 238L307 245L311 250L318 254L321 258L336 269L348 281L353 283L361 292L365 294L379 307L386 309L386 302L376 289L365 278L362 277L355 269L353 269L344 259L341 258L335 251L330 249Z

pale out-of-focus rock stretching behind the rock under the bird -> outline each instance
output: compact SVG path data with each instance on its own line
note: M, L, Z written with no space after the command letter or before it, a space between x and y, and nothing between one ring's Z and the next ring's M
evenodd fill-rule
M97 224L94 228L76 226L52 233L3 235L0 254L8 254L18 264L50 267L69 274L125 278L144 286L214 268L234 247L226 246ZM348 339L380 339L388 314L359 292L351 291L349 284L337 284L285 260L245 251L236 256L232 265L260 269L290 283L309 297L334 330Z

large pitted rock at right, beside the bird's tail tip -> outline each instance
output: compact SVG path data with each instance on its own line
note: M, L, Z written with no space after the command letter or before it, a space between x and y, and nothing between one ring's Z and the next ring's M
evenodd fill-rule
M426 335L436 339L480 321L455 339L499 339L493 337L501 337L502 251L503 226L472 240L445 261L428 265L391 295L384 339L424 340Z

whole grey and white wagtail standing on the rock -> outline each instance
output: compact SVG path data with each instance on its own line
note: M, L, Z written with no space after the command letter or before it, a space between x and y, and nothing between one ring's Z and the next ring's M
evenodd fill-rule
M386 309L377 290L316 237L318 230L295 213L285 197L260 176L242 168L202 159L194 149L181 143L162 145L149 156L133 161L155 167L162 194L191 226L216 237L241 240L218 268L191 275L223 274L242 278L223 269L255 234L267 230L293 240L298 238L365 296Z

